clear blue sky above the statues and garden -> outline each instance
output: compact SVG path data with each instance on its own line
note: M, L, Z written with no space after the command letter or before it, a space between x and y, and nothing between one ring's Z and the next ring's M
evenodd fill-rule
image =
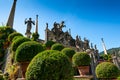
M5 25L13 0L0 0L0 25ZM120 1L119 0L17 0L14 29L26 31L25 18L35 20L39 15L39 34L45 39L46 22L49 29L53 23L65 21L64 31L71 29L73 38L86 37L102 51L101 38L106 48L120 47ZM32 31L35 26L32 27Z

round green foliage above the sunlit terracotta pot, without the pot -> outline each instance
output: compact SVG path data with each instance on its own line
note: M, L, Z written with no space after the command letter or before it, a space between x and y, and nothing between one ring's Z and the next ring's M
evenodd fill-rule
M86 52L79 52L73 55L72 61L74 66L88 66L90 65L91 58Z

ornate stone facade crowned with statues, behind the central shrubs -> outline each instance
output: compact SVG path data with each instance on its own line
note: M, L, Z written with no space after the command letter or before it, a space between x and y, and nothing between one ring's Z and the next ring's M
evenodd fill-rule
M90 49L89 40L84 38L82 41L81 37L78 35L76 36L76 39L74 39L71 36L70 30L66 32L62 30L64 27L66 27L64 21L61 23L54 22L53 28L50 30L48 28L48 23L46 23L45 42L52 40L54 42L61 43L64 46L73 47L77 51L86 51L87 49Z

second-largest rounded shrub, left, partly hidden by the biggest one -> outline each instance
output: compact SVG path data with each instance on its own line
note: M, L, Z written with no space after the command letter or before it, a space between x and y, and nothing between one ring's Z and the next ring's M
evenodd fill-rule
M43 47L40 43L34 41L27 41L22 43L16 50L15 61L27 62L31 61L32 58L43 51Z

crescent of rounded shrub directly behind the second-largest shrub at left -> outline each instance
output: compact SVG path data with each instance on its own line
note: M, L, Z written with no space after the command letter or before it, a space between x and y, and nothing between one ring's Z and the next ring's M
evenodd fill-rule
M17 36L18 37L18 36ZM20 44L22 44L23 42L26 42L26 41L30 41L30 39L29 38L26 38L26 37L19 37L19 38L17 38L15 41L13 41L13 43L12 43L12 46L11 46L11 49L12 49L12 51L16 51L16 49L18 48L18 46L20 45Z

